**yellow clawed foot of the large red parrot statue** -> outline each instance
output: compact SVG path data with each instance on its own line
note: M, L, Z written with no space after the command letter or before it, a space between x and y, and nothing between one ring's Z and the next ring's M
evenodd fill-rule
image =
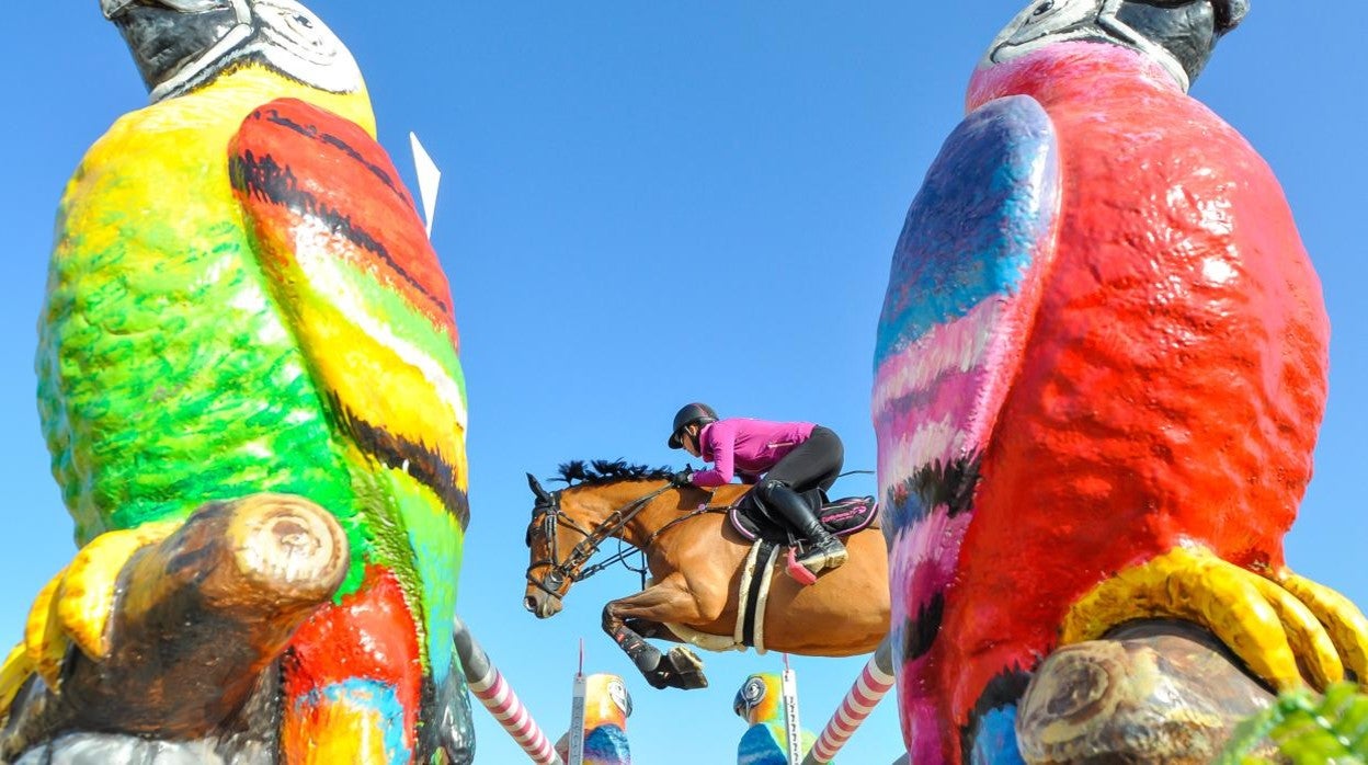
M1135 619L1174 617L1211 630L1279 691L1306 684L1298 658L1311 680L1324 686L1343 676L1334 650L1339 640L1317 623L1315 604L1300 602L1305 599L1205 549L1175 547L1079 598L1064 617L1060 643L1097 639Z

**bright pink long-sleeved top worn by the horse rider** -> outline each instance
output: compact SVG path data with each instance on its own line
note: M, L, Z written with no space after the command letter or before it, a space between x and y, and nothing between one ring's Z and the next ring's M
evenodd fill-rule
M795 446L813 435L813 423L770 423L729 417L703 427L699 434L703 458L713 469L694 474L695 486L731 483L733 475L757 479Z

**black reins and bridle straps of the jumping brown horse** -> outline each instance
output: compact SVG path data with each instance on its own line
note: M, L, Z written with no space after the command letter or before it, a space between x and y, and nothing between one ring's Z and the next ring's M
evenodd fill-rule
M599 521L594 528L588 530L576 523L575 519L565 515L564 510L561 510L561 491L553 491L549 495L550 500L549 502L540 502L540 509L543 509L542 532L546 535L547 554L550 557L532 561L527 567L527 580L539 590L547 593L549 595L560 598L561 597L560 588L561 584L564 584L565 582L570 583L583 582L590 576L594 576L595 573L617 562L621 562L622 567L627 568L628 571L642 575L642 582L644 587L646 582L644 562L642 568L632 568L631 564L627 562L627 558L633 553L640 553L644 556L646 550L651 546L651 543L655 542L655 539L659 538L661 534L665 534L674 526L684 523L685 520L689 520L692 517L698 517L700 515L720 510L724 508L713 508L707 501L705 501L698 508L676 519L672 519L665 526L657 528L654 532L651 532L650 536L646 538L644 542L642 542L639 549L624 550L620 547L617 553L614 553L613 556L607 557L603 561L599 561L587 568L584 568L584 564L587 564L595 554L598 554L599 547L607 539L618 538L621 541L618 532L627 528L627 524L632 523L632 519L640 515L640 512L646 509L646 506L653 500L655 500L657 497L665 494L672 489L679 489L679 486L674 483L666 483L665 486L654 491L650 491L643 497L632 500L622 508L618 508L611 513L609 513L609 516L602 521ZM707 497L710 501L713 498L713 491L709 491ZM561 527L561 524L565 524L566 527L575 530L576 532L584 536L584 539L581 539L579 543L575 545L575 547L570 550L569 557L566 557L564 561L557 560L560 557L560 545L557 543L557 530ZM550 569L540 579L534 578L532 569L540 565L549 565Z

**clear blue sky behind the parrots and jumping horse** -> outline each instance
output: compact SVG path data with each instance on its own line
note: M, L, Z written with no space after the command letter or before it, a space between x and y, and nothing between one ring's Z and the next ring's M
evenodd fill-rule
M445 171L434 233L451 278L471 404L472 523L460 610L543 725L588 669L627 679L637 762L729 762L731 701L778 656L705 656L706 691L654 691L599 631L609 572L551 621L524 613L524 472L570 458L680 463L668 422L729 415L836 428L874 467L874 327L908 203L962 116L969 74L1018 0L867 3L360 3L313 0L371 85L408 172L416 130ZM1334 323L1331 398L1290 564L1368 605L1368 5L1253 0L1194 94L1267 157ZM73 554L38 432L34 322L52 216L85 148L145 92L96 0L25 3L3 56L0 635ZM408 172L412 182L412 172ZM839 493L871 493L852 476ZM1025 595L1025 594L1023 594ZM5 632L7 631L7 632ZM818 728L863 660L796 660ZM476 709L479 762L518 750ZM843 761L900 751L886 703Z

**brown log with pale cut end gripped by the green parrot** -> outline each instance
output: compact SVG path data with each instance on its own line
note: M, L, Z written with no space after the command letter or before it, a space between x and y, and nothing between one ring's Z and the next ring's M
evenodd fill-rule
M0 742L12 760L63 729L201 739L234 727L264 671L347 571L342 528L300 497L211 502L118 576L108 654L68 651L57 690L34 676ZM268 735L265 731L257 731Z

